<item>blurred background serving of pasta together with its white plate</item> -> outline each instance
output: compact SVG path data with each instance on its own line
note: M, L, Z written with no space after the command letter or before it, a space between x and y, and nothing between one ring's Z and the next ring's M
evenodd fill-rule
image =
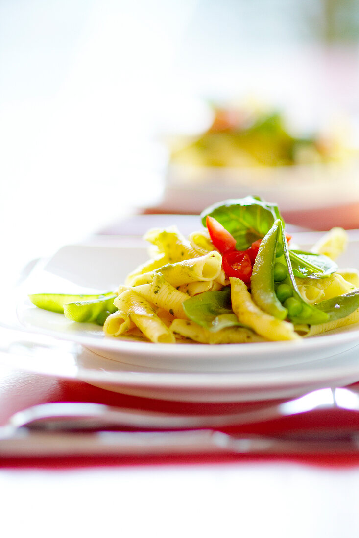
M359 226L359 146L348 115L307 133L284 110L253 99L209 106L202 132L165 140L157 211L195 214L218 200L259 195L277 200L291 224Z

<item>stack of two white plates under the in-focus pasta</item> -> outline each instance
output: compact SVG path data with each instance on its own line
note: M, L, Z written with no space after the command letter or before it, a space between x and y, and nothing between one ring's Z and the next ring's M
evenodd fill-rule
M317 236L302 233L296 239L307 247ZM347 254L339 261L344 267L359 267L359 232L350 231L349 236ZM357 325L300 342L152 344L104 338L100 327L69 322L60 314L33 307L26 299L31 293L115 289L145 259L147 253L141 240L100 237L95 243L65 246L50 260L34 265L17 289L17 314L22 326L11 320L11 307L16 302L13 292L2 302L2 323L37 333L37 338L56 340L51 351L49 346L45 353L31 351L30 360L16 353L19 366L80 378L112 391L183 401L288 397L328 384L359 380ZM70 354L68 350L61 352L61 346L74 344ZM37 349L38 344L33 348ZM18 339L15 349L22 349ZM9 350L3 351L7 355L2 359L8 360ZM15 365L14 357L12 361Z

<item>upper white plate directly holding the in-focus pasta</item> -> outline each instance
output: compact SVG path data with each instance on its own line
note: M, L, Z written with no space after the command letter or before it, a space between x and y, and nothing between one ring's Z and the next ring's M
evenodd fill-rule
M306 245L304 245L306 246ZM32 331L77 342L123 364L167 371L244 372L321 360L359 343L358 325L299 342L269 342L209 346L153 344L105 338L95 324L74 323L61 314L33 305L27 293L88 293L116 289L129 271L147 259L144 246L70 245L40 262L22 284L20 322ZM344 266L359 267L359 240L352 238Z

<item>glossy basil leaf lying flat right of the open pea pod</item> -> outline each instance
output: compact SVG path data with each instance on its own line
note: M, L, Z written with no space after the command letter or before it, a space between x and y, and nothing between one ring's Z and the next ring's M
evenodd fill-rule
M335 261L323 254L289 250L293 274L299 278L326 278L334 273L338 266Z

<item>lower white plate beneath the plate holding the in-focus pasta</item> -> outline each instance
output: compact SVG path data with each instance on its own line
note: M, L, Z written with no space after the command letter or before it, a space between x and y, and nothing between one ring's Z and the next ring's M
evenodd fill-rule
M68 341L0 329L0 364L106 390L182 402L243 402L293 398L359 380L359 347L314 362L245 372L168 372L129 366ZM203 412L205 408L203 408Z

